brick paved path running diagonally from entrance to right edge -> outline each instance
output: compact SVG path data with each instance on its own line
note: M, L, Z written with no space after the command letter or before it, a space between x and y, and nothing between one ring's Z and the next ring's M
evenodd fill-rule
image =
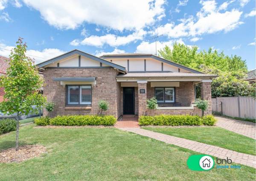
M158 132L152 132L140 128L119 128L124 131L134 132L138 135L147 136L159 141L163 141L168 144L174 144L178 147L191 149L195 152L212 155L218 158L231 158L231 160L237 164L243 164L256 168L256 156L248 155L244 153L235 152L229 149L212 146L209 144L199 143L197 141L191 141L184 138L177 138L175 136L165 135Z

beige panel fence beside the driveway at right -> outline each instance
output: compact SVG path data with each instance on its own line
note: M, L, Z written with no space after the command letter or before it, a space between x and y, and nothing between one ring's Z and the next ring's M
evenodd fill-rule
M255 119L255 99L251 97L212 98L212 112L223 115Z

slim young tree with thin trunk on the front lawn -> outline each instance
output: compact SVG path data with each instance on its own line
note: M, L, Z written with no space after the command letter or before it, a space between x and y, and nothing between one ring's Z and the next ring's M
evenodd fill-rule
M19 115L29 114L32 105L38 109L45 103L46 98L38 90L44 80L38 74L34 61L26 56L26 43L22 38L16 42L16 47L9 56L9 68L6 75L0 77L0 87L4 87L4 101L0 103L0 110L9 115L17 113L16 151L19 138Z

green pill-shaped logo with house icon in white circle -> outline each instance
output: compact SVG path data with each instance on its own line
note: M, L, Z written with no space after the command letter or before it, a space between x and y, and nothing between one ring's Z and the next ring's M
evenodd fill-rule
M190 170L208 171L214 167L214 160L209 155L191 155L187 160Z

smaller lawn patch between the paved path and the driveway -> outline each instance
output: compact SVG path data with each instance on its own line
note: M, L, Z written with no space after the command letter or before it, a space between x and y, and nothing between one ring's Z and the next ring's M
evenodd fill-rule
M189 128L151 128L154 132L186 138L205 144L231 149L233 151L255 155L255 140L219 127L189 127Z

